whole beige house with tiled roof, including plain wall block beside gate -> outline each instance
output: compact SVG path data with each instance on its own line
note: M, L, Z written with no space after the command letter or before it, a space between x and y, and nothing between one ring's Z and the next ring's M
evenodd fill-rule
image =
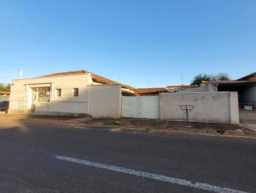
M134 90L85 70L51 73L13 80L8 113L118 118L122 94Z

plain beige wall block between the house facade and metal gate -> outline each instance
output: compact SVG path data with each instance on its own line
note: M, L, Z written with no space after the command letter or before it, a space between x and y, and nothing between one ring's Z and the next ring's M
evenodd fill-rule
M122 88L120 84L88 86L89 114L92 117L120 118Z

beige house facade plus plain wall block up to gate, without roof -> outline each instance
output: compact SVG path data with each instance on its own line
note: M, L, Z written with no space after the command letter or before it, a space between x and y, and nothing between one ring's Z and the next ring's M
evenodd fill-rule
M14 80L11 84L8 113L31 113L35 107L33 114L120 117L122 95L120 84L92 85L92 83L90 74ZM50 101L33 104L31 88L45 86L51 88ZM73 88L79 88L79 96L72 96ZM61 89L61 96L56 95L56 89Z

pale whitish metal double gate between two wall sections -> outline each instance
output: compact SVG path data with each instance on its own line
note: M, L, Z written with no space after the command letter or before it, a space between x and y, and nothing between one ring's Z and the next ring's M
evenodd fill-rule
M122 117L159 119L159 96L122 96Z

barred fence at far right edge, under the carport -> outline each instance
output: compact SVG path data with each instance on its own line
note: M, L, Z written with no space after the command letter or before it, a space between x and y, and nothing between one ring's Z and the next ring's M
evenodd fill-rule
M239 103L240 123L256 123L256 103Z

